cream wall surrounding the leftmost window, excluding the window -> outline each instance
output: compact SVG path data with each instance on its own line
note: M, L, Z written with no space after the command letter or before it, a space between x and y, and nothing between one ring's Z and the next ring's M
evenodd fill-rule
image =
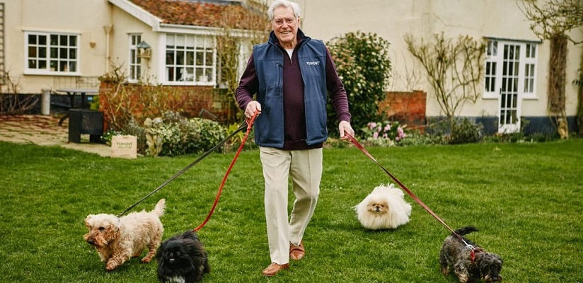
M100 76L104 71L105 32L110 22L105 1L8 0L5 8L5 70L18 82L22 93L51 88L54 76L25 75L25 31L79 33L81 76ZM90 42L94 42L91 47Z

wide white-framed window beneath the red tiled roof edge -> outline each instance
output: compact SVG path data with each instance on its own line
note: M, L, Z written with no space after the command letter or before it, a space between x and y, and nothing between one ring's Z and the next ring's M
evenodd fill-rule
M217 48L210 35L166 33L163 83L171 86L214 86Z

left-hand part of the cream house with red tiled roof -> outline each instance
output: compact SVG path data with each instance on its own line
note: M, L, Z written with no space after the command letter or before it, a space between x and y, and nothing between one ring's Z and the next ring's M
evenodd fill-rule
M114 70L129 83L217 87L221 17L255 6L242 0L0 0L0 71L20 93L98 88L98 77ZM242 23L231 35L244 39L249 26ZM250 45L241 47L241 67L249 54ZM93 85L81 86L87 82Z

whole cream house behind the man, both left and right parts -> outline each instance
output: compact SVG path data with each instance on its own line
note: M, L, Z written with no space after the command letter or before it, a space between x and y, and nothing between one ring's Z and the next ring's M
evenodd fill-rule
M297 0L306 35L328 41L351 31L373 32L391 42L393 82L387 91L427 92L427 117L442 115L423 70L403 36L470 35L488 41L488 80L476 103L458 115L483 122L489 132L554 132L548 112L548 41L539 40L514 0ZM0 0L0 71L22 93L54 90L63 80L83 81L121 67L129 82L147 79L176 86L217 87L219 67L214 35L217 13L246 1ZM168 3L178 5L178 10ZM240 5L241 4L241 5ZM219 8L217 8L217 6ZM204 9L207 7L207 9ZM176 12L176 11L178 12ZM174 13L171 13L174 11ZM574 32L572 35L583 35ZM582 45L568 45L566 114L574 126L577 89L572 83ZM512 50L513 52L504 52ZM241 48L241 64L250 48ZM504 71L513 64L517 73ZM509 79L516 88L503 89ZM486 81L486 80L484 80ZM511 103L504 103L511 101Z

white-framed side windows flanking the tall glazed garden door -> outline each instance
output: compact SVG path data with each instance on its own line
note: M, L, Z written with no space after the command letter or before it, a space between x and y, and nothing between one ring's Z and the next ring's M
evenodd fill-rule
M519 40L504 40L498 38L487 38L486 44L486 60L485 60L485 74L483 86L484 99L498 99L500 96L500 88L502 86L502 46L504 44L520 45L519 58L519 93L522 99L538 99L536 96L536 82L538 69L538 50L540 49L540 42L525 42ZM528 47L528 48L527 48ZM530 54L527 56L526 51L529 49ZM491 69L495 64L496 69ZM527 66L531 66L529 71L526 71ZM490 69L488 74L487 69ZM533 71L533 74L530 74ZM528 76L526 76L528 74ZM493 81L492 81L493 80ZM488 88L487 83L494 83L492 88ZM529 87L525 88L525 84L529 83ZM532 88L530 86L532 85Z

